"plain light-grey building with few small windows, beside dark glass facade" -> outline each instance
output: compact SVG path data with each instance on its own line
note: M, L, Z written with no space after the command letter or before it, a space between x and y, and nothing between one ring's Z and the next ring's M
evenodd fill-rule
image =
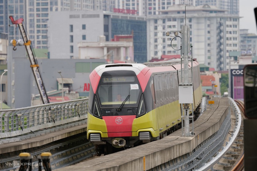
M100 11L50 12L50 16L48 50L51 59L78 59L78 42L97 42L98 36L103 35Z

